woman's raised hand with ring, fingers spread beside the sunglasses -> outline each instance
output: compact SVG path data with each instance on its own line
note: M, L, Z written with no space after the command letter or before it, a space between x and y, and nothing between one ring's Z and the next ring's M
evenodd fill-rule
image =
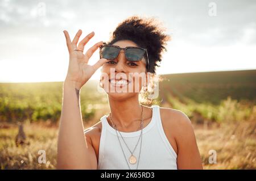
M107 60L105 58L101 58L94 65L88 65L89 58L92 57L93 53L103 44L102 41L96 43L88 49L88 51L83 54L81 50L84 50L85 45L88 41L94 36L94 32L89 33L84 39L79 41L79 37L82 34L82 31L79 30L76 33L73 41L71 41L69 34L67 31L63 31L67 40L67 47L69 52L69 65L68 65L68 73L65 78L65 82L72 83L75 85L76 89L80 90L81 87L89 80L90 77L95 73L95 71L100 68ZM81 49L81 50L74 50Z

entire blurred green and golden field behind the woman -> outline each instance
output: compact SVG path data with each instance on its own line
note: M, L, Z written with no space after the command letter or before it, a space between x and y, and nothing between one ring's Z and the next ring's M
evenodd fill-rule
M204 169L256 169L256 70L161 75L154 104L188 115ZM1 169L55 169L63 82L0 83ZM150 106L150 105L148 105ZM109 112L97 81L81 90L85 127ZM15 145L18 122L29 144ZM46 163L38 163L39 150ZM209 163L209 151L217 163Z

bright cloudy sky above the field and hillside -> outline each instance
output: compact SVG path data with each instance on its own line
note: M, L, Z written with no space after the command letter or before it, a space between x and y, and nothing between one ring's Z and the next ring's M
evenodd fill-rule
M256 1L0 0L0 82L64 81L63 30L94 31L86 50L131 15L159 19L172 36L159 74L256 69Z

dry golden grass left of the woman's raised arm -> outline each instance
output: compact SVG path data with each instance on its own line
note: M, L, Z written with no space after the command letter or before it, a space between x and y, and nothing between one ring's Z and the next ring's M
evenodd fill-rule
M0 129L1 169L55 169L57 156L57 128L25 124L24 132L30 145L15 145L18 128ZM39 150L46 151L46 164L38 163Z

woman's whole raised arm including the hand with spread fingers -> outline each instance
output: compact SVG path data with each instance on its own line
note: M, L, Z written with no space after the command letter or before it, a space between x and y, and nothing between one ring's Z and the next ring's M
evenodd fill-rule
M84 136L80 108L80 90L95 71L107 60L101 58L89 65L89 58L102 45L102 41L93 45L84 54L86 43L94 36L89 33L77 45L82 31L76 33L71 41L67 31L63 31L69 52L68 73L63 84L63 104L60 116L58 138L57 169L97 169L97 158L90 142ZM77 50L80 49L80 50Z

